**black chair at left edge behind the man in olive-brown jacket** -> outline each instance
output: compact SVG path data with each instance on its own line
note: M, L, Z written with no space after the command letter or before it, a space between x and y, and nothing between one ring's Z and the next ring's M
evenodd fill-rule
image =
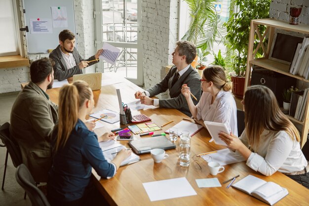
M10 154L13 165L17 167L18 165L22 164L22 158L19 146L17 142L10 138L10 130L9 130L10 124L4 123L2 126L0 126L0 139L6 146L6 156L5 156L5 163L4 163L4 173L3 173L3 180L2 180L2 187L1 189L4 190L4 180L5 180L5 174L6 174L6 166L7 166L7 158L8 154ZM26 192L24 195L24 199L26 200Z

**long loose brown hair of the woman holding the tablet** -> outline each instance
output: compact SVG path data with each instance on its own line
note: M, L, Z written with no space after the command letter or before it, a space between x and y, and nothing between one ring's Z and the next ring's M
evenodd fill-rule
M244 96L245 125L250 146L257 150L263 131L285 131L294 141L300 141L295 125L281 112L270 88L248 87Z

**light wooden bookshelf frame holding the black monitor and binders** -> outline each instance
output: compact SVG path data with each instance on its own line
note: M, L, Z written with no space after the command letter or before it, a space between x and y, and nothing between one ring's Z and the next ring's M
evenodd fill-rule
M265 33L262 35L259 31L259 25L264 25L267 27ZM298 25L290 25L288 22L276 20L276 19L256 19L251 20L250 25L250 36L249 36L249 44L248 44L248 57L247 57L247 68L246 68L246 80L245 80L245 88L247 89L250 83L250 77L251 77L251 68L252 65L257 65L260 67L263 67L265 69L298 79L300 81L309 82L309 80L306 80L305 78L299 76L299 75L293 75L290 74L290 66L286 64L282 64L273 60L268 59L270 54L270 48L272 41L274 41L274 30L275 29L282 29L289 32L298 32L305 35L309 35L309 25L305 24L298 24ZM253 44L255 39L255 34L257 34L258 39L258 46L255 50L253 50ZM268 46L266 47L263 43L263 40L268 35L269 41ZM263 49L264 57L262 58L255 58L256 51L259 48ZM308 129L309 129L309 96L307 98L306 107L305 107L305 118L304 121L296 120L294 117L287 115L287 117L294 123L301 124L302 130L301 130L301 147L304 146L304 144L307 141L307 135L308 135Z

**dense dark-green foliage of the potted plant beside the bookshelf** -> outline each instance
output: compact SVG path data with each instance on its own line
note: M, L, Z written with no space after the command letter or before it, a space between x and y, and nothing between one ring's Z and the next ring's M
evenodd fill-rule
M250 22L252 19L269 18L271 0L232 0L230 18L224 23L227 28L227 67L231 68L235 76L244 76L247 64ZM239 11L235 12L235 8ZM254 29L254 28L251 28ZM261 34L265 26L259 27ZM257 37L255 36L255 39ZM254 49L258 41L254 43ZM263 56L262 49L257 52L257 57Z

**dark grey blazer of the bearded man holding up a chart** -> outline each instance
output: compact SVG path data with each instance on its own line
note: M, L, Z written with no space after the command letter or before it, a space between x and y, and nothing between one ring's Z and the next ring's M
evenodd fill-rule
M49 58L51 58L55 61L55 65L53 66L53 69L54 69L54 78L56 80L63 81L63 80L66 80L70 77L73 77L73 75L82 74L81 69L79 69L79 67L78 67L79 62L95 60L94 55L91 56L88 59L82 59L76 48L74 48L74 50L73 50L73 57L75 59L76 66L73 67L73 68L67 68L66 62L62 57L60 45L58 45L57 48L55 48L49 54ZM91 66L91 65L93 65L97 62L99 62L99 60L90 62L88 64L88 66Z

